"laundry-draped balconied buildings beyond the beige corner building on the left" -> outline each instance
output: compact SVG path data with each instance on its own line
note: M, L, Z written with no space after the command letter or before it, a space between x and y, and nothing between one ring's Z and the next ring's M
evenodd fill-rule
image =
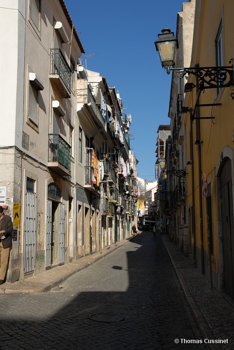
M81 60L78 70L77 201L87 217L92 211L93 221L92 227L84 223L78 249L88 254L129 236L136 221L136 159L126 139L119 93L108 87L105 77L86 70Z

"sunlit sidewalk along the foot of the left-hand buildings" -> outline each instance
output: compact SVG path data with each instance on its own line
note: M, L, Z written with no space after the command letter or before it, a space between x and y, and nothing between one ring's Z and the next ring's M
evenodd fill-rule
M36 294L49 292L52 288L59 286L78 271L86 269L98 260L105 258L114 250L125 245L133 237L134 236L130 235L116 244L103 248L102 252L87 255L68 264L56 266L53 269L41 272L36 276L14 283L3 283L0 285L0 294Z

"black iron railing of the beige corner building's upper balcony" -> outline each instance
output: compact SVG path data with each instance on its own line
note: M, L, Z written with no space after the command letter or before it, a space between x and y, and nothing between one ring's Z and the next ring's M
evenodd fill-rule
M66 88L71 92L72 70L60 49L51 49L51 74L58 74Z

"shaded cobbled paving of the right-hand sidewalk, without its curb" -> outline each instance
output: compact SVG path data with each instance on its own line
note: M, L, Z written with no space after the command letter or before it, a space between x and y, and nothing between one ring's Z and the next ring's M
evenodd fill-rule
M175 269L179 271L179 278L184 279L189 289L188 298L190 298L189 294L191 294L201 316L204 318L201 328L204 329L205 322L214 334L214 339L229 340L228 344L219 344L219 349L233 350L234 308L216 290L211 290L208 279L199 272L198 268L193 267L192 261L189 258L185 258L175 244L169 241L167 236L162 236L162 238L172 257Z

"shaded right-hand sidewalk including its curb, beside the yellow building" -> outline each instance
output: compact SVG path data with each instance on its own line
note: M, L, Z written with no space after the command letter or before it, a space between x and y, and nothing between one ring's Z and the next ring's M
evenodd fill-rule
M166 235L162 236L165 248L180 282L203 339L228 339L229 344L210 344L212 350L234 349L234 304L230 304L216 290L193 262L185 258Z

